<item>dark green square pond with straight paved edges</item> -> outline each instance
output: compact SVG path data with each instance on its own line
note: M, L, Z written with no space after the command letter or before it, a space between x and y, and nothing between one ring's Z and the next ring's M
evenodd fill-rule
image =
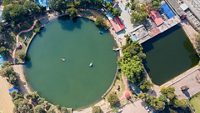
M199 61L191 42L179 25L148 40L142 46L147 55L145 68L157 85L176 77Z

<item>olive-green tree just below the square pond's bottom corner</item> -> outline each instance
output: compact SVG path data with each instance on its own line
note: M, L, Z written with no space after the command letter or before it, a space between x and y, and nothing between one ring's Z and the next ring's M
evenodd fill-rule
M160 90L161 94L168 98L170 101L176 98L175 89L173 87L163 87Z

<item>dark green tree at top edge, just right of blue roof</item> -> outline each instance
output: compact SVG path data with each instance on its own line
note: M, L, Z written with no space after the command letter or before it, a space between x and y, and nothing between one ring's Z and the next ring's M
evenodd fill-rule
M67 8L65 0L49 0L49 7L59 13L64 13Z

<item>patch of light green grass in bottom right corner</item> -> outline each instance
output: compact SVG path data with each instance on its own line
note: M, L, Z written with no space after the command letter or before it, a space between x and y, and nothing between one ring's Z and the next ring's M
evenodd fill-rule
M195 109L195 113L200 113L200 93L191 98L190 104Z

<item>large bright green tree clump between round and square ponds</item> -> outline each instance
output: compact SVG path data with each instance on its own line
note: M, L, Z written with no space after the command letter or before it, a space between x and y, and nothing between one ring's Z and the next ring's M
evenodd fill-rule
M131 42L123 48L123 57L119 60L119 66L131 82L140 82L142 78L144 71L142 60L145 58L142 50L141 45L136 42Z

